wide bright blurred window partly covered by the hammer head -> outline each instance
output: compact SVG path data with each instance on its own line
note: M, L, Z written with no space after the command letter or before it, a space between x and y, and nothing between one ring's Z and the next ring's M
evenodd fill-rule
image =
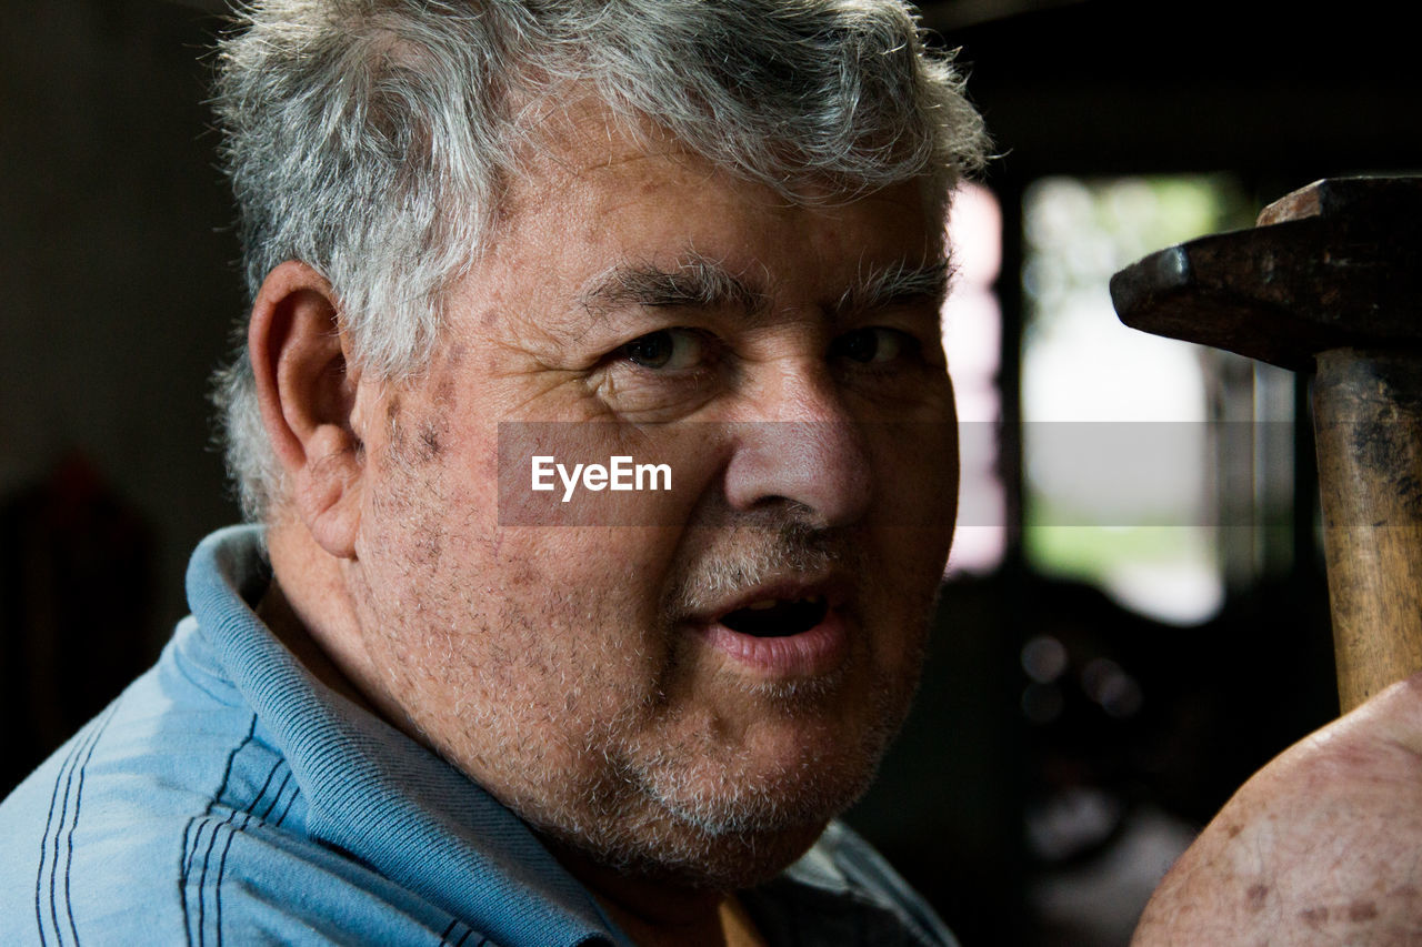
M1150 617L1204 620L1224 597L1207 422L1231 357L1125 328L1108 283L1249 226L1247 202L1224 176L1045 178L1022 206L1024 553Z

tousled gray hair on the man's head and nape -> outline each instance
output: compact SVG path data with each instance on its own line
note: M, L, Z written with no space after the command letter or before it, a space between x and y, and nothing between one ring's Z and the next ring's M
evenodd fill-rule
M256 0L215 87L252 299L303 260L361 371L418 373L529 117L574 82L792 200L916 178L946 200L984 159L951 54L900 0ZM229 472L263 519L284 488L245 346L216 382Z

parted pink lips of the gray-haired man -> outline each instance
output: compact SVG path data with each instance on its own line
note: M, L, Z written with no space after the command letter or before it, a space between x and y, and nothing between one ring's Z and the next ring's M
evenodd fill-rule
M729 614L762 599L805 599L823 596L828 604L819 624L782 637L757 637L722 624ZM764 584L737 596L714 616L693 623L702 640L729 661L755 675L768 678L819 677L838 668L849 646L849 620L845 614L848 592L840 582L782 582Z

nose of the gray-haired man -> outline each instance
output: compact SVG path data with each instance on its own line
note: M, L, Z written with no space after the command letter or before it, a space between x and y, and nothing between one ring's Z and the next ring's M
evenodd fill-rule
M738 421L725 475L727 501L752 510L788 503L811 525L845 526L865 516L875 474L866 432L829 378L789 373L758 392L755 419Z

